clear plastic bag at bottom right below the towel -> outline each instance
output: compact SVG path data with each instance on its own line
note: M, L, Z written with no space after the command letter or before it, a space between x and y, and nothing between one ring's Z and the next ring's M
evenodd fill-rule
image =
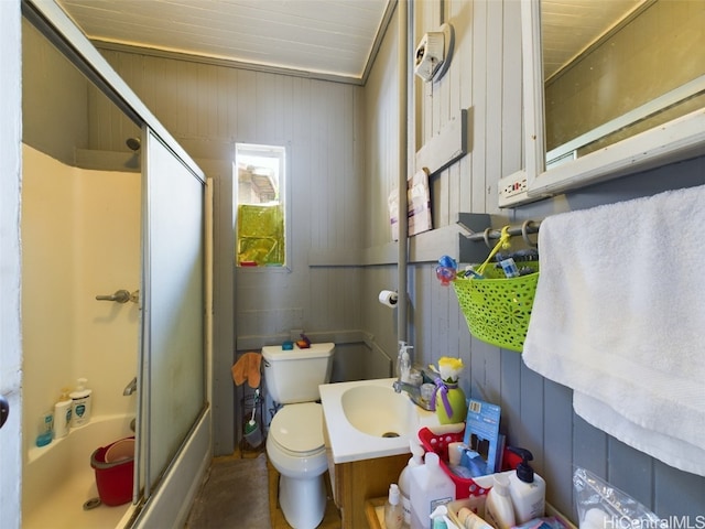
M581 529L666 527L639 501L585 468L575 469L573 487Z

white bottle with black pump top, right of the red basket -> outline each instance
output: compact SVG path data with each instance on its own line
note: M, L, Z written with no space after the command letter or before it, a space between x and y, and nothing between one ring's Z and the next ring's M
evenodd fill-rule
M509 474L509 495L517 523L525 523L545 514L546 482L529 465L533 460L531 452L514 446L508 449L521 457L517 469Z

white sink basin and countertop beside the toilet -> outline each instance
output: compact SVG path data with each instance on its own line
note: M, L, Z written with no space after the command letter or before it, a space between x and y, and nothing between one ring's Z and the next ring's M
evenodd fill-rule
M432 411L392 388L395 378L319 386L326 442L335 463L409 453L421 427L436 427Z

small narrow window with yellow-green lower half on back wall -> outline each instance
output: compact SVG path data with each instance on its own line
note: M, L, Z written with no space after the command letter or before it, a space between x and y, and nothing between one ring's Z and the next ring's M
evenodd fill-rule
M236 143L236 262L240 267L286 263L285 149Z

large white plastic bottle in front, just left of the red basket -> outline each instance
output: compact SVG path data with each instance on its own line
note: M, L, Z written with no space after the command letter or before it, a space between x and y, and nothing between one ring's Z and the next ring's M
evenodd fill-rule
M431 512L455 499L455 484L441 468L435 452L426 452L424 464L411 469L411 528L429 529Z

